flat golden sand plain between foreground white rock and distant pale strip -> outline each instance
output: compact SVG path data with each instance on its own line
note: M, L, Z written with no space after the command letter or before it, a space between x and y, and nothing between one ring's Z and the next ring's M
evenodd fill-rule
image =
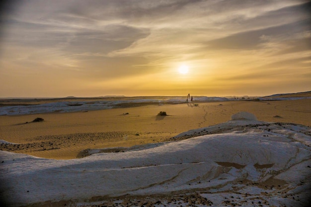
M160 111L168 116L156 116ZM311 126L311 99L151 104L88 112L0 116L0 139L19 143L1 144L0 149L73 159L88 148L165 141L191 129L227 122L240 111L250 112L261 121ZM36 117L44 122L33 123Z

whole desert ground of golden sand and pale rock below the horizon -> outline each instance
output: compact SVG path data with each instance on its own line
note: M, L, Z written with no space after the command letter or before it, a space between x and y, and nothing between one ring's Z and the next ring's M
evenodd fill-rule
M188 103L184 97L101 98L107 109L92 109L97 99L24 101L3 100L0 108L7 206L310 202L310 92ZM27 108L51 103L76 108ZM44 121L32 122L36 117Z

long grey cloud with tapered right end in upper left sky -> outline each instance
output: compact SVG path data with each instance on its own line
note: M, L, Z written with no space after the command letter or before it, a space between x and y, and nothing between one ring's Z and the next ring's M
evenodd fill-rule
M10 20L6 42L24 47L60 48L69 53L108 53L149 35L148 29L105 25L98 29Z

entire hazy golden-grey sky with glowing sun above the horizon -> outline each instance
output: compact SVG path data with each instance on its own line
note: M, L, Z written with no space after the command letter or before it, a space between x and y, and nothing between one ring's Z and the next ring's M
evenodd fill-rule
M311 90L311 1L9 0L0 97Z

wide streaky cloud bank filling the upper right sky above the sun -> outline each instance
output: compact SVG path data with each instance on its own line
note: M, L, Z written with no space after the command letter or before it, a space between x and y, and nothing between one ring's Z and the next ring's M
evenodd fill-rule
M176 48L192 54L196 49L201 53L218 49L256 50L266 47L264 44L268 41L262 38L264 36L283 41L291 38L290 35L310 29L310 15L305 10L310 3L256 1L254 5L253 1L239 1L236 5L229 1L210 2L187 4L183 8L189 9L188 13L178 10L173 11L173 15L163 15L162 18L170 18L166 24L155 20L149 36L110 55L154 56L156 53L167 57L183 53Z

